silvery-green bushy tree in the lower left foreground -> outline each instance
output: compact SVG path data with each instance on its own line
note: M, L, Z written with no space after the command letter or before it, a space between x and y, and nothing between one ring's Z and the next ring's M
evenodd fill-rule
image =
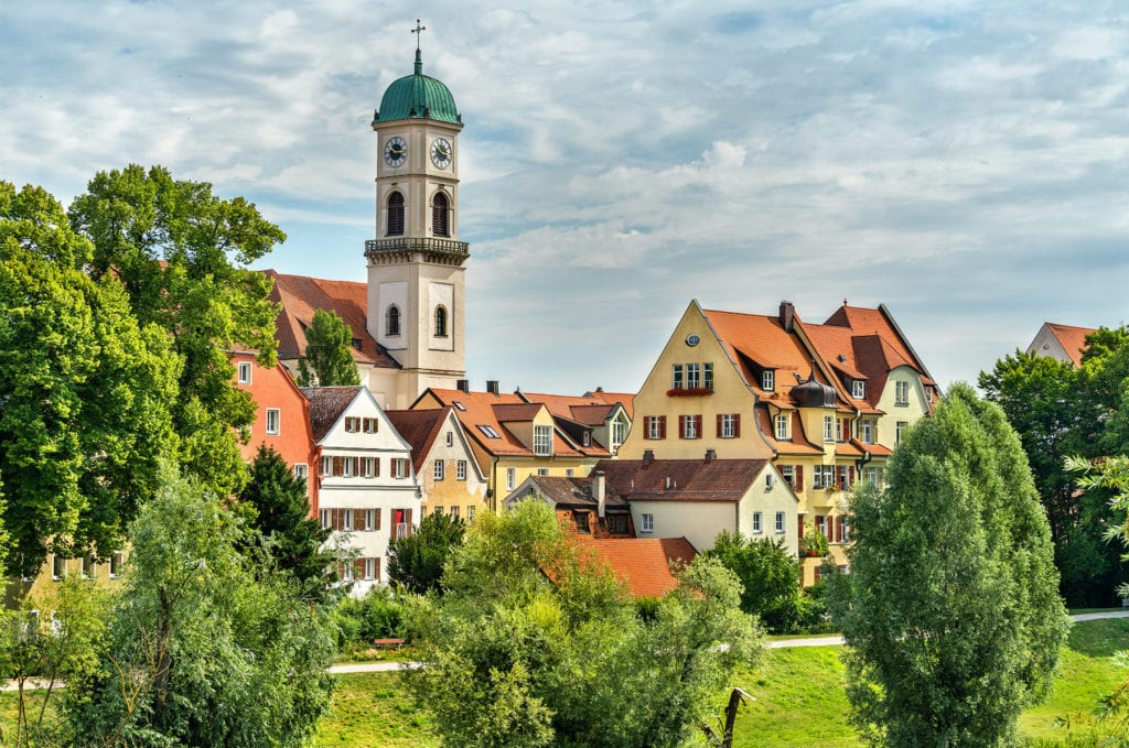
M71 684L75 745L299 746L330 703L329 615L238 552L245 528L167 478L133 552L98 675Z

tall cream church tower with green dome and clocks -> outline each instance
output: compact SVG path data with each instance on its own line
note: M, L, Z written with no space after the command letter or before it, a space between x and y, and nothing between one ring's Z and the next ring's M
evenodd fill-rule
M423 30L417 21L415 33ZM458 240L458 133L443 82L415 70L392 82L373 117L377 134L376 238L368 259L368 332L401 366L396 403L466 378L465 267Z

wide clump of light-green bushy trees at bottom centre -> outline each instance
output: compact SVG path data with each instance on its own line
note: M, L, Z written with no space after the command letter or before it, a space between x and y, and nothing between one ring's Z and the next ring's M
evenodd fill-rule
M544 503L483 514L452 553L445 595L410 599L427 667L409 686L445 745L681 746L752 661L756 628L716 560L680 579L640 616Z

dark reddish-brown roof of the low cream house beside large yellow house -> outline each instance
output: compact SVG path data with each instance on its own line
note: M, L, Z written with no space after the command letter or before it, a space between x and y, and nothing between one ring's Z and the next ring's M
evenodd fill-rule
M741 501L765 459L604 459L607 486L631 501ZM669 487L667 487L669 485Z

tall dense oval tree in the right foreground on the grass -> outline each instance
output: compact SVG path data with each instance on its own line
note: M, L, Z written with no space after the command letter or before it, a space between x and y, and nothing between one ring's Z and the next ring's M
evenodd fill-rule
M852 573L829 589L852 719L874 745L1010 745L1068 627L1019 440L956 385L886 481L856 489Z

